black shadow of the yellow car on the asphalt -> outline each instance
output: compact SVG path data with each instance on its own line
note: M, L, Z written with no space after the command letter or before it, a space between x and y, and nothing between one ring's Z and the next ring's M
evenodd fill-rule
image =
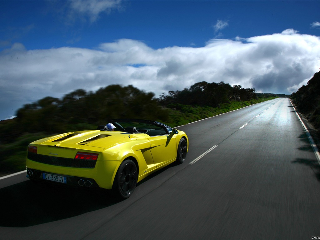
M121 201L107 190L55 187L27 180L0 189L2 227L28 227L95 211Z

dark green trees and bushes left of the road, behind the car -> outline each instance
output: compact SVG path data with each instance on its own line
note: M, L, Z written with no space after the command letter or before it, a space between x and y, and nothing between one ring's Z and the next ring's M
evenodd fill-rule
M63 132L96 129L108 119L140 118L180 126L276 98L254 88L200 82L182 91L154 93L132 85L109 85L97 92L78 89L62 99L45 97L0 121L0 175L25 169L28 144Z

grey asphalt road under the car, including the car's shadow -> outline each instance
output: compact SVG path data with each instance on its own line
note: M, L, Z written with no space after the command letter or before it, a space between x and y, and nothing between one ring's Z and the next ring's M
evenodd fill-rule
M117 201L105 191L0 181L0 239L312 239L320 168L289 99L178 127L187 160Z

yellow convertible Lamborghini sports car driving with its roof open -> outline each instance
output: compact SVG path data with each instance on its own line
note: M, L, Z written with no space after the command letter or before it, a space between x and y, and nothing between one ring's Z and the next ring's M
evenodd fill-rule
M27 177L61 185L113 189L122 198L137 182L188 152L185 132L156 121L114 119L97 130L68 132L28 146Z

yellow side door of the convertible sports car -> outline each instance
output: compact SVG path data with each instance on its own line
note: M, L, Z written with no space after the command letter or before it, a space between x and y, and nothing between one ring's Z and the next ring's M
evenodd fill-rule
M156 167L177 157L177 144L174 134L152 136L149 140L153 163L156 164Z

